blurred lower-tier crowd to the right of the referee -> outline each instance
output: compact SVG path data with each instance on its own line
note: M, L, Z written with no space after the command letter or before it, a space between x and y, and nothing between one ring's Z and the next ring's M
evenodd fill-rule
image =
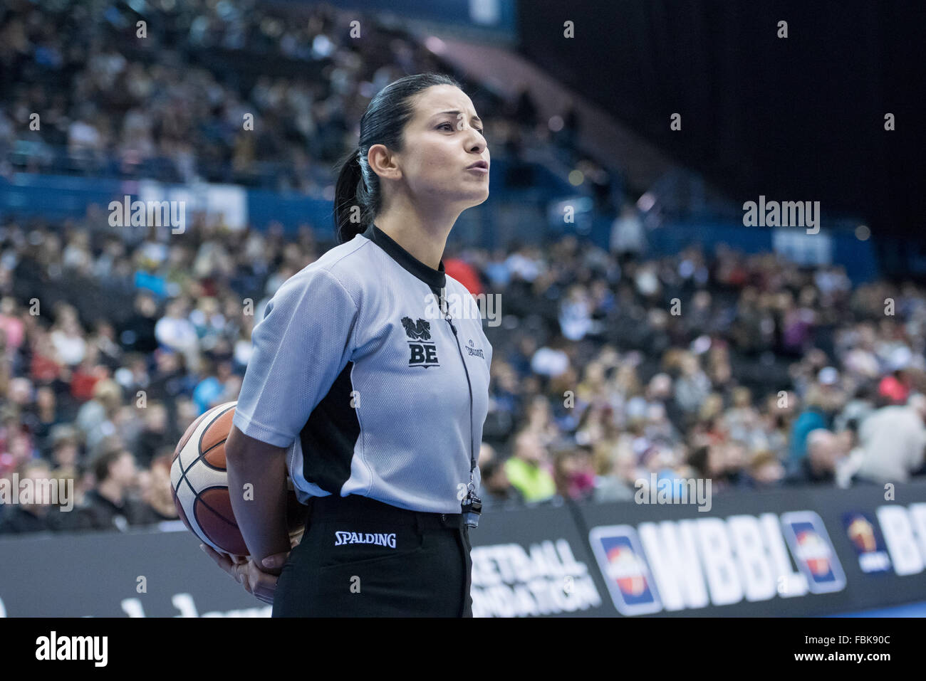
M470 257L519 316L490 334L490 504L632 500L652 479L681 498L688 478L722 493L926 473L926 291L912 283L853 287L842 266L722 244L645 259L569 237Z

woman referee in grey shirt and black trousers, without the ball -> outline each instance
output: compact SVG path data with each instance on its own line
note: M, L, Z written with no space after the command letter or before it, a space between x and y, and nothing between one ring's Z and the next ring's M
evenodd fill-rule
M488 168L456 80L390 83L338 176L339 245L254 328L226 443L229 488L252 490L232 493L251 558L207 552L274 617L472 616L492 346L442 255ZM292 551L287 468L308 506Z

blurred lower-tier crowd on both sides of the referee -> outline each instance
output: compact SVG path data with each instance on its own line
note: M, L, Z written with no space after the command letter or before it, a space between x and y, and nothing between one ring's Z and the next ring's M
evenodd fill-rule
M76 495L69 514L0 506L5 532L176 518L176 443L236 399L270 296L331 245L309 227L287 240L202 220L127 245L93 224L0 225L0 477L72 479ZM444 261L501 301L486 326L487 509L632 500L651 474L723 493L923 473L926 292L913 284L853 287L840 266L722 246L647 259L571 236ZM122 269L146 277L106 279Z

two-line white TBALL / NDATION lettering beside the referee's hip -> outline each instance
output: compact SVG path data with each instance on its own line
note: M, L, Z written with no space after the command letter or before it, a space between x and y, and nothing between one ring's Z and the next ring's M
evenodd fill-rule
M525 617L579 613L602 604L588 566L567 539L475 546L472 559L474 617Z

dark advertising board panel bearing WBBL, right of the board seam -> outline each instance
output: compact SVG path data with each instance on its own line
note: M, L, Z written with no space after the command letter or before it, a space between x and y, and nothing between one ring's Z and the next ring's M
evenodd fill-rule
M926 485L579 507L614 612L793 616L926 598Z

